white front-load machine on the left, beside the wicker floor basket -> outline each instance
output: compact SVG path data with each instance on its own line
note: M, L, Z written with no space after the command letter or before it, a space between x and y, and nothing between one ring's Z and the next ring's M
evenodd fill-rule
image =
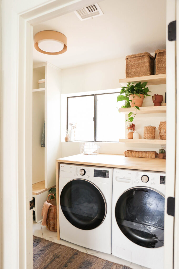
M60 164L60 238L111 253L113 168Z

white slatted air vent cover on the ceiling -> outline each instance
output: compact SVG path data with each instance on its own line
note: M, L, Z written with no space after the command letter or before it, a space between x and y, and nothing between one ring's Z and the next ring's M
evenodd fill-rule
M100 9L97 3L81 9L77 9L74 12L80 20L93 19L93 17L104 15L103 11Z

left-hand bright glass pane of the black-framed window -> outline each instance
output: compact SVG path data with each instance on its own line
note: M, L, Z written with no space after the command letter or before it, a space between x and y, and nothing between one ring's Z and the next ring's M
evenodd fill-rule
M94 96L68 98L68 129L76 128L74 140L94 141Z

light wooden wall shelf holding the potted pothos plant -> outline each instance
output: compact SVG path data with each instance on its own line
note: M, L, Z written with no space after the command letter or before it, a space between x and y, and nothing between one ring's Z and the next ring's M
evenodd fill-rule
M128 114L129 112L136 112L136 109L134 107L119 108L119 112ZM166 113L166 105L161 105L158 107L140 107L140 110L137 109L137 114L151 113Z

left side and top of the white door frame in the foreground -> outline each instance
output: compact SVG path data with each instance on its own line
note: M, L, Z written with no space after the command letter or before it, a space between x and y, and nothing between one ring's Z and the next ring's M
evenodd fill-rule
M1 268L32 268L33 25L93 4L92 0L32 1L18 13L2 1ZM42 2L42 1L39 1ZM15 10L15 11L14 11ZM8 29L8 31L7 31ZM32 210L31 210L32 211Z

